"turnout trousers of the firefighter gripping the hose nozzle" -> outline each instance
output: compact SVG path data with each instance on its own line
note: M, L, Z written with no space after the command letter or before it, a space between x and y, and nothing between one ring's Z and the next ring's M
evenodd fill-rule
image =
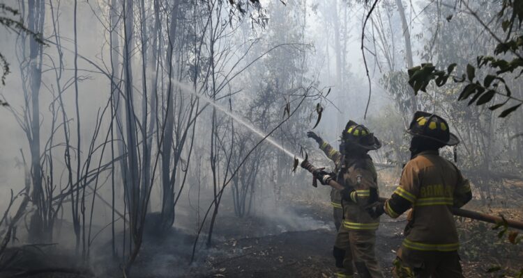
M336 259L338 273L346 276L338 277L352 277L351 275L354 275L354 268L351 261L354 261L354 266L356 267L359 277L383 278L384 276L376 259L376 252L374 251L375 245L376 231L353 231L343 226L340 227L338 235L336 236L333 255ZM339 252L339 254L336 254L337 252ZM339 257L341 253L344 255L342 259Z

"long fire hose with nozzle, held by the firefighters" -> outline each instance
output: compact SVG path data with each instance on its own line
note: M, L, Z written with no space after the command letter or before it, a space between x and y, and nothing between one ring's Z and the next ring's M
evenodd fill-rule
M304 161L302 161L301 167L303 167L303 169L305 169L305 170L308 170L312 174L314 174L314 172L317 172L318 170L323 170L322 168L314 167L314 165L310 164L306 158ZM340 183L338 183L337 181L335 181L333 179L331 179L331 181L328 182L328 185L337 190L344 189L344 186L342 186ZM317 181L316 181L315 177L313 177L312 186L317 187ZM379 197L380 202L385 202L386 199L387 198ZM494 223L494 224L506 224L506 226L508 226L508 227L523 230L522 221L509 220L509 219L506 219L503 217L489 215L486 213L479 213L477 211L469 211L469 210L463 209L463 208L450 207L450 211L452 211L453 215L456 215L456 216L461 216L464 218L470 218L473 220L479 220L479 221L489 222L489 223Z

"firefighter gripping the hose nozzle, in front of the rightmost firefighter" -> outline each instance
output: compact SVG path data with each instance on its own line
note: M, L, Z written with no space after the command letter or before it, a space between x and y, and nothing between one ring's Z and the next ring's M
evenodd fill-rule
M379 219L372 218L365 210L377 202L379 196L377 173L367 152L379 149L381 142L365 126L353 121L347 123L341 139L335 179L344 186L340 191L343 220L333 247L338 268L336 277L353 277L352 261L359 277L383 277L374 252ZM329 157L334 156L333 148L323 143L321 141L321 149L326 150Z

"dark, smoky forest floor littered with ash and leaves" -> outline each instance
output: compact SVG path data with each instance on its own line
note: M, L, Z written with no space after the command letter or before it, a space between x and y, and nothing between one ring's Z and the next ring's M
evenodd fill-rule
M479 207L469 204L471 209ZM216 222L213 244L206 248L206 235L201 236L195 263L188 263L194 242L190 234L194 231L173 229L162 240L145 238L131 277L333 277L335 228L331 213L328 202L287 200L273 213L237 218L232 208L224 205ZM504 213L516 219L523 215L522 208L491 208L490 213ZM405 224L403 216L396 220L381 218L376 254L385 277L391 277L392 261L402 242ZM457 226L465 277L499 277L499 273L487 273L487 269L497 264L517 269L523 265L523 245L498 240L498 231L492 231L491 224L458 221ZM42 247L41 252L33 250L38 251L31 253L38 259L22 259L16 264L19 270L0 272L0 277L123 277L119 264L110 260L109 244L93 251L89 268L75 265L67 254L47 252L47 248L52 247Z

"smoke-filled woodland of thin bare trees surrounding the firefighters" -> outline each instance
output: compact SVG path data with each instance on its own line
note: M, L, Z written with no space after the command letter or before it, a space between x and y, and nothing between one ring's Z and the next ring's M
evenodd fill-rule
M467 208L522 220L521 31L499 9L0 1L0 276L326 277L330 188L293 163L333 164L306 132L337 147L349 119L369 127L386 196L418 110L462 141L441 155L471 180ZM520 269L516 231L458 220L467 276ZM403 226L381 224L386 270Z

